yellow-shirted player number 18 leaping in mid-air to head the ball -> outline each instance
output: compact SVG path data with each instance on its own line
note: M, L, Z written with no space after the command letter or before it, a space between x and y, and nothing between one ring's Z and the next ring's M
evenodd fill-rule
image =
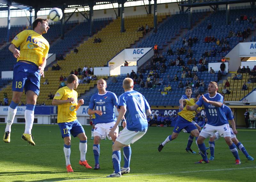
M31 135L34 122L34 109L39 94L40 78L44 76L44 68L49 51L49 43L42 36L47 33L47 19L37 18L33 22L33 30L24 30L14 37L9 50L17 58L13 68L12 102L8 108L8 116L4 133L4 142L10 143L11 125L13 123L17 106L20 103L23 90L26 93L27 106L25 110L25 131L22 139L35 145ZM18 50L20 47L20 50Z

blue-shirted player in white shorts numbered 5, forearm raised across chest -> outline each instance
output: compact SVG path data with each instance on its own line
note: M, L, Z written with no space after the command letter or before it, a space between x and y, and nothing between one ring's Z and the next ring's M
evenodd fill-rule
M195 111L198 107L204 105L205 113L208 118L207 124L204 126L197 138L198 148L200 149L200 154L203 157L203 159L197 163L209 163L204 140L217 131L220 136L224 137L230 151L236 158L236 164L241 164L236 145L231 140L228 119L223 112L223 96L217 93L217 91L218 84L216 82L210 82L208 85L208 93L202 95L194 106L187 105L187 109L192 111Z

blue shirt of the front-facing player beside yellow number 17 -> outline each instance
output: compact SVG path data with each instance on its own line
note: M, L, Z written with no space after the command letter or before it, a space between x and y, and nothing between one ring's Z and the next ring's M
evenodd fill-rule
M95 125L97 123L116 122L115 106L117 106L116 94L106 91L105 94L96 93L92 96L89 109L102 111L102 116L95 113Z

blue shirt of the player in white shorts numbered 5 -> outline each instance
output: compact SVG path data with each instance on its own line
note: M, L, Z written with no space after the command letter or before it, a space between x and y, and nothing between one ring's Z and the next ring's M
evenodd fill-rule
M220 95L219 93L216 93L213 97L210 97L209 93L207 93L207 94L204 94L204 97L210 101L223 103L223 96ZM205 113L208 119L207 124L212 126L221 126L224 124L228 124L228 119L223 112L223 106L216 107L209 103L206 103L204 102L202 96L196 102L196 105L200 107L204 105Z

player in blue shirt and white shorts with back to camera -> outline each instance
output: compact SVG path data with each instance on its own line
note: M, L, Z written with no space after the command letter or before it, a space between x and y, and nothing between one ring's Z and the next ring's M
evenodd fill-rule
M130 172L131 147L130 144L139 140L146 134L148 129L147 116L151 114L147 100L141 93L133 90L133 80L125 78L123 81L124 93L119 97L118 107L120 107L119 115L115 126L111 129L110 134L113 134L118 128L118 124L124 117L124 129L119 133L113 145L112 161L115 171L108 177L121 177L121 174ZM121 153L124 150L124 167L120 168Z

